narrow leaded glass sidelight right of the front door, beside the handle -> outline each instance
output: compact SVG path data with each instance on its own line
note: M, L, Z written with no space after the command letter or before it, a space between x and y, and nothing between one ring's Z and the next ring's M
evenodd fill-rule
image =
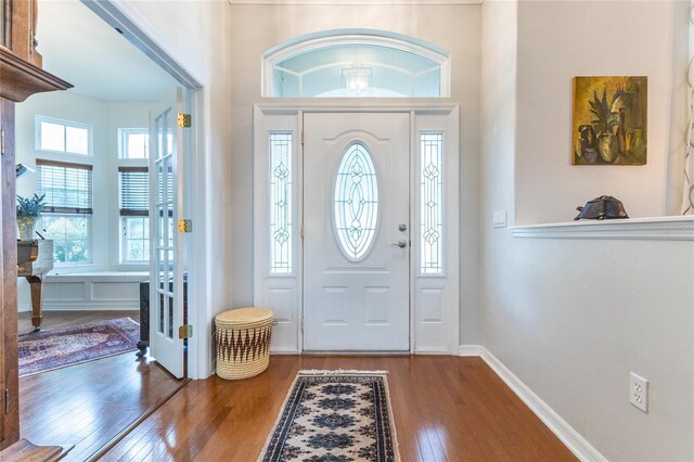
M422 274L444 272L444 133L420 134L420 242Z

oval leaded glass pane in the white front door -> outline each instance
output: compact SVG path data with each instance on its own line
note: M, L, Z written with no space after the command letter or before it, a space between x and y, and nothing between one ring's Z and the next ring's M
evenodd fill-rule
M362 260L371 249L378 221L378 182L368 147L350 144L337 168L334 223L337 242L345 257Z

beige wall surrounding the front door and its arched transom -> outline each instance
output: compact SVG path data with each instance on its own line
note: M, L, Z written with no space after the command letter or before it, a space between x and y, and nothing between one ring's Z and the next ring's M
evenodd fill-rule
M451 101L461 106L461 336L478 341L479 5L249 5L234 4L231 57L233 142L232 239L234 306L253 303L253 104L260 99L260 56L305 34L337 28L412 36L451 52Z

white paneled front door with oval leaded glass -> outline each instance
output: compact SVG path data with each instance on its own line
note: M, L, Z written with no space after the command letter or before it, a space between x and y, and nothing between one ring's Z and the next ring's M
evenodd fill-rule
M410 348L410 115L304 115L304 349Z

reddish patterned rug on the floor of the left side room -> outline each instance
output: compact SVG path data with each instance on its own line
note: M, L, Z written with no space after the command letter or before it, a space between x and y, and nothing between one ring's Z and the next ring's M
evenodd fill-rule
M20 335L20 376L132 351L140 324L130 318L110 319Z

